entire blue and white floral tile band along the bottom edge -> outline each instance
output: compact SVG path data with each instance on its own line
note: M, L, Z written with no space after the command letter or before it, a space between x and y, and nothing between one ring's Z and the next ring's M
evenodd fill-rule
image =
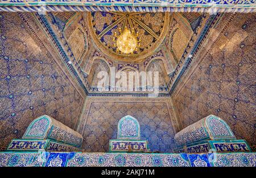
M255 153L120 154L88 152L1 152L0 167L255 167Z

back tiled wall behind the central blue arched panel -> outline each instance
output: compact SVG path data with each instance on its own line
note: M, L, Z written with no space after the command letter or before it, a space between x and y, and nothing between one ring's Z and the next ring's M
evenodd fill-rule
M126 115L137 118L151 151L172 152L176 116L169 98L88 98L80 124L82 149L109 151L109 139L117 138L118 121Z

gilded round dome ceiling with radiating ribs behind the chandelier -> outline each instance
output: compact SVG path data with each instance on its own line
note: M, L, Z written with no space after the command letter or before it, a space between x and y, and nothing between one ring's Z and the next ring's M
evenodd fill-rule
M118 61L143 61L155 52L162 43L169 25L170 13L146 12L88 12L89 32L94 43L109 57ZM113 37L120 35L118 29L135 29L141 37L138 52L125 54L116 52Z

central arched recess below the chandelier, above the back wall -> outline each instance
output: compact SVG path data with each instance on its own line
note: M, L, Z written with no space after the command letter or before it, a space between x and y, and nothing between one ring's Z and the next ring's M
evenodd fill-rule
M132 67L132 66L125 66L123 67L122 69L118 70L118 73L121 73L121 72L125 72L126 73L126 81L125 78L121 78L119 77L119 82L123 83L123 82L126 82L127 84L127 89L128 86L129 86L129 80L133 80L133 87L139 87L140 84L139 84L139 71L138 69L136 69L135 67ZM133 72L133 76L129 76L129 72ZM133 79L131 79L131 77Z

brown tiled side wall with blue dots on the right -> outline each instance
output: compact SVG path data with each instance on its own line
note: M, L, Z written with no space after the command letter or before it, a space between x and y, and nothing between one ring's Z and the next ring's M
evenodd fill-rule
M226 14L212 28L173 95L183 128L213 114L223 118L237 138L256 144L255 18Z

